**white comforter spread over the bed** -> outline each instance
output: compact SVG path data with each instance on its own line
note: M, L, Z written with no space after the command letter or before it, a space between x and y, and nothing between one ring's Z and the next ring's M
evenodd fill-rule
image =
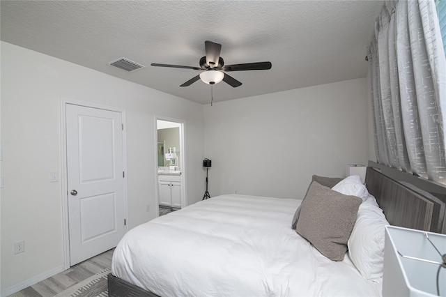
M130 230L112 272L160 296L379 296L291 229L300 200L224 195Z

